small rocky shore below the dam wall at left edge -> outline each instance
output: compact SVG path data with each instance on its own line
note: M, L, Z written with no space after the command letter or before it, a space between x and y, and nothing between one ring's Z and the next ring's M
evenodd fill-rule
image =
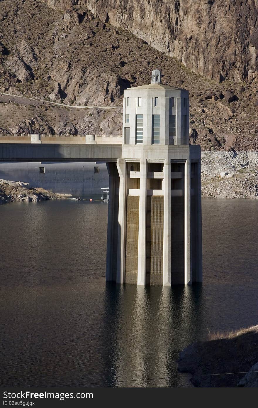
M0 205L15 201L62 200L71 194L56 194L44 188L31 188L29 183L0 179Z

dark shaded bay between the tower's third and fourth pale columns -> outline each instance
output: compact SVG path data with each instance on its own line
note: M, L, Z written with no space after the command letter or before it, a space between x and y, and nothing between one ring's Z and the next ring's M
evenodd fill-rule
M174 173L174 174L173 174ZM185 162L171 160L171 284L184 284Z

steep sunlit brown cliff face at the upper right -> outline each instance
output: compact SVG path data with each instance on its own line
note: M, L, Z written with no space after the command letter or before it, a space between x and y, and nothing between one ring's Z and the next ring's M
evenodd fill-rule
M50 4L51 1L48 1ZM58 1L55 1L56 6ZM64 0L60 0L60 4ZM258 13L253 0L79 0L104 22L134 33L194 73L216 81L258 75Z

